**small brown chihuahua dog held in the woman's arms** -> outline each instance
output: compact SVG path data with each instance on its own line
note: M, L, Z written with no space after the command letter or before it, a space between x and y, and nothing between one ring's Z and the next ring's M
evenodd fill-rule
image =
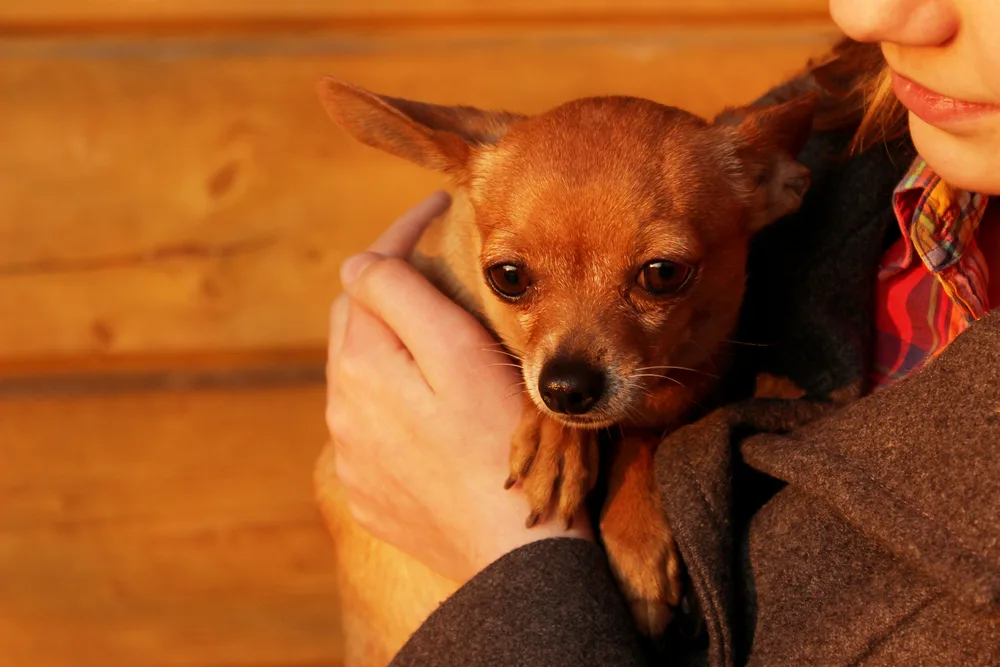
M809 172L796 155L813 100L730 109L707 122L629 97L526 116L396 99L332 78L319 92L358 141L454 186L451 209L412 260L522 369L525 411L506 486L523 487L529 526L552 514L572 521L597 478L598 431L620 433L600 534L639 629L660 633L681 597L682 570L653 455L725 367L751 237L801 204ZM339 548L370 555L376 547L362 539L355 532ZM401 558L366 567L407 567ZM430 585L440 595L423 599L449 592ZM386 595L413 590L367 594L374 618L379 604L398 613ZM388 651L405 636L370 640Z

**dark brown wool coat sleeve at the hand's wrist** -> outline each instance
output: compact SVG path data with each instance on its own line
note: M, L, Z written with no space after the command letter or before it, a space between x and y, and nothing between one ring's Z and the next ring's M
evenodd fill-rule
M505 555L446 600L392 665L647 664L600 548L571 538Z

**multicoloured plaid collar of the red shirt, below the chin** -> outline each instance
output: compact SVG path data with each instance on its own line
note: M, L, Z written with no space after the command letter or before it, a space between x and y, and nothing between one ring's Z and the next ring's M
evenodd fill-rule
M989 197L948 185L917 157L893 193L896 219L910 242L900 261L882 268L883 275L909 268L914 255L935 274L958 264L988 203Z

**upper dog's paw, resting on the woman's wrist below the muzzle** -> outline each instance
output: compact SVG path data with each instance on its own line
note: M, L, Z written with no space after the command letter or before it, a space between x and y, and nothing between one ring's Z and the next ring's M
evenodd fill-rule
M520 483L528 498L529 528L555 509L569 528L597 481L597 435L565 426L535 409L525 411L510 449L509 489Z

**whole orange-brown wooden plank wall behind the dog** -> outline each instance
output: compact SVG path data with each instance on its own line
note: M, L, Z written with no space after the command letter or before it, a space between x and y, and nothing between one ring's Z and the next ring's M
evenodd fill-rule
M710 114L834 36L825 0L0 0L0 664L339 664L327 307L440 181L317 78Z

